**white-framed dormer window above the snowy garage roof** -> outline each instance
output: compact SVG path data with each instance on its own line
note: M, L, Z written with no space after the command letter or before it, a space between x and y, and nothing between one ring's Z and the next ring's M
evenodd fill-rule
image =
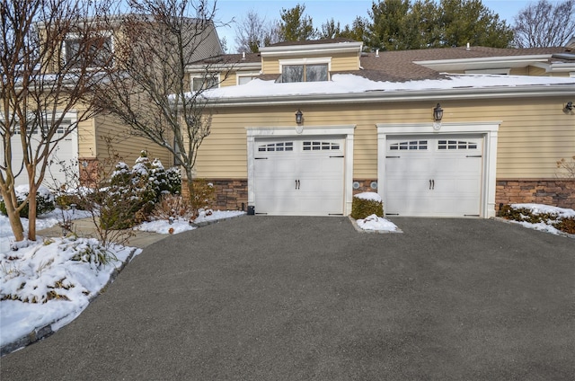
M280 59L281 82L319 82L330 79L331 58Z

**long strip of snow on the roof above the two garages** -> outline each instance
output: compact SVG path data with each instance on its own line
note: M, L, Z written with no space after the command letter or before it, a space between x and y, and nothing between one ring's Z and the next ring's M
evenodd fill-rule
M247 84L225 86L203 93L209 99L261 98L288 95L410 92L490 87L575 85L575 78L528 75L445 75L441 79L376 82L359 75L333 74L331 81L275 83L254 79Z

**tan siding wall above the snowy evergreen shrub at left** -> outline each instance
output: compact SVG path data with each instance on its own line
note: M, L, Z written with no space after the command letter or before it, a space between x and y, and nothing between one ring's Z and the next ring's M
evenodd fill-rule
M96 154L98 159L111 158L119 155L128 165L134 164L142 150L146 150L148 157L152 160L158 158L164 167L173 165L173 157L168 151L145 137L136 137L131 133L130 128L122 125L109 115L99 115L95 118L96 126Z

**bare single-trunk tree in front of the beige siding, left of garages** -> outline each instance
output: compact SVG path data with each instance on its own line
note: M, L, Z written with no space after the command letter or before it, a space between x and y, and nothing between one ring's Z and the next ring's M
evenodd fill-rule
M129 1L116 39L116 65L99 92L99 104L131 128L167 149L186 173L193 197L198 148L211 116L202 96L225 79L221 68L190 80L187 66L222 53L214 32L216 4L207 0ZM214 61L217 63L217 61Z

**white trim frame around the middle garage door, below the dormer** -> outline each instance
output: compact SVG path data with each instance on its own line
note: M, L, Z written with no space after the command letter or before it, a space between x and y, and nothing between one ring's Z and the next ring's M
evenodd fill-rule
M353 201L353 137L356 125L343 126L314 126L305 127L300 134L295 127L246 127L247 132L247 154L248 154L248 206L255 207L255 148L257 137L322 137L339 136L344 138L344 189L343 189L343 215L351 213L351 202Z

